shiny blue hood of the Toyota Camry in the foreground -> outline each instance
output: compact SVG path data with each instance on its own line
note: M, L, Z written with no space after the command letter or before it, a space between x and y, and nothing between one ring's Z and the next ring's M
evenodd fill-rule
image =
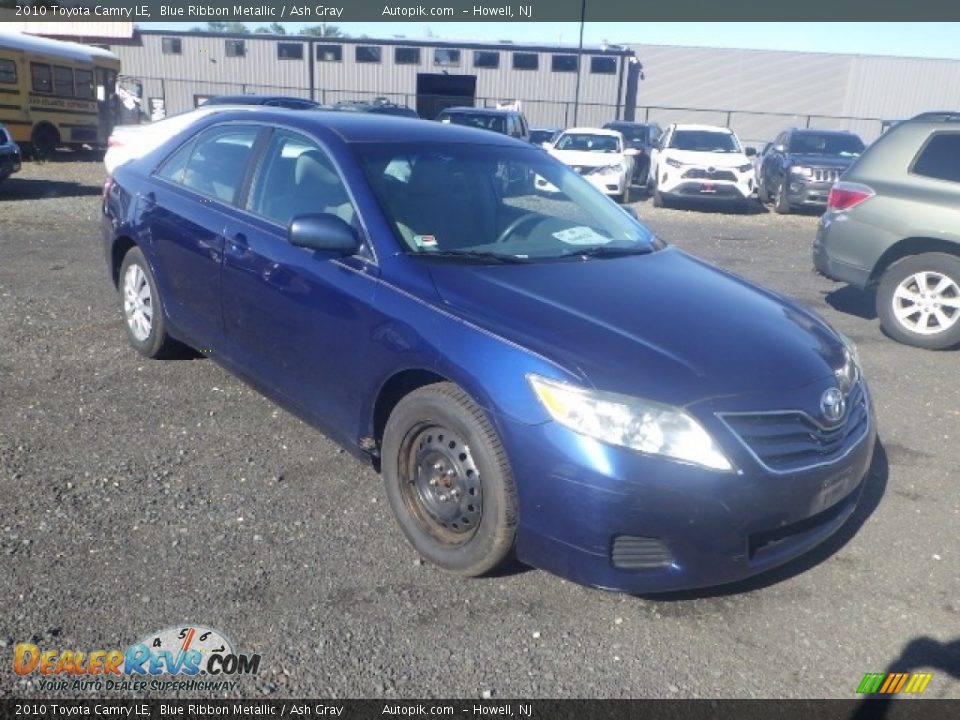
M603 390L687 405L802 387L843 365L842 342L811 312L674 248L430 272L458 315Z

